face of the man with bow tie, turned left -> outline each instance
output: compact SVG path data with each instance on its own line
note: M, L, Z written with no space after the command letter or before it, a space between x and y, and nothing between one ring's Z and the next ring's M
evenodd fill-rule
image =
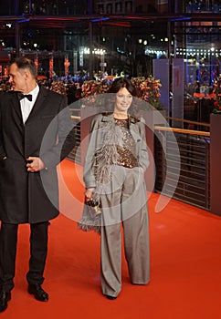
M26 71L19 70L16 63L9 68L9 83L14 91L24 92L26 90Z

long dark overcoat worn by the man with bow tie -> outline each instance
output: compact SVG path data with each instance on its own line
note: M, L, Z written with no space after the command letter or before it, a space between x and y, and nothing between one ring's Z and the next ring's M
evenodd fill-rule
M75 144L66 106L65 96L40 87L24 125L16 93L1 94L0 158L6 156L0 161L1 221L35 223L58 216L56 166ZM29 156L40 157L47 170L27 172Z

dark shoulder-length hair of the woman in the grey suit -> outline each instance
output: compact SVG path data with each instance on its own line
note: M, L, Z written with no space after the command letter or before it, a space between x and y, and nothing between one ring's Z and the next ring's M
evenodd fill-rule
M141 118L140 108L136 103L137 90L136 87L133 86L132 81L130 79L125 77L119 77L114 79L107 93L118 93L118 91L123 87L125 87L131 93L132 97L134 97L132 99L132 105L128 109L128 113L134 118ZM108 111L113 111L114 103L115 96L113 99L111 98L110 105L108 106Z

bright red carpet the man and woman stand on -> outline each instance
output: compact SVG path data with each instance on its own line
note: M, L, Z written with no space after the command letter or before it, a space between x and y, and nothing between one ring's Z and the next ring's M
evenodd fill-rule
M81 168L66 160L61 175L61 209L75 219L83 198ZM78 174L79 176L78 176ZM221 218L179 201L154 212L158 199L149 200L151 232L151 283L132 285L122 263L122 291L109 301L100 293L100 238L77 229L60 214L51 221L46 281L48 303L26 293L29 245L28 225L21 225L16 261L16 287L5 319L218 319L221 298ZM71 208L68 208L71 205Z

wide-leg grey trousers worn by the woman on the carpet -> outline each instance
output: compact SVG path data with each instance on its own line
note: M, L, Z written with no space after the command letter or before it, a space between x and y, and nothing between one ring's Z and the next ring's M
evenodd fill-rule
M101 196L100 279L102 293L121 292L121 222L131 282L150 281L147 194L141 168L114 166Z

